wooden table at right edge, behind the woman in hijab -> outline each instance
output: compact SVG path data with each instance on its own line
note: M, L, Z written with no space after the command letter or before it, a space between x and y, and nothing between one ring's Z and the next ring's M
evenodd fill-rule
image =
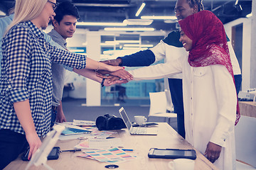
M256 104L253 101L239 101L240 114L256 118Z

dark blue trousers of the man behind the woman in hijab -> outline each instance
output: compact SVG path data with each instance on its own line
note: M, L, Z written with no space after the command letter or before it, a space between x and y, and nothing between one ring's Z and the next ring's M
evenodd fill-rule
M182 79L168 79L174 113L177 113L178 134L185 139Z

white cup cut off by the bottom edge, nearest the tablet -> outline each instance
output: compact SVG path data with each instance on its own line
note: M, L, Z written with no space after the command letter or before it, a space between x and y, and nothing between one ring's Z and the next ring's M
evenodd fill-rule
M174 159L168 163L168 167L172 170L194 170L195 161L192 159Z

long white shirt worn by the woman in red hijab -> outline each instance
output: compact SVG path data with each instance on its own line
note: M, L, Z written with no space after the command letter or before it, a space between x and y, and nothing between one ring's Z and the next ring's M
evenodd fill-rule
M163 66L164 67L161 67ZM223 65L191 67L188 57L129 71L134 80L182 72L186 140L202 154L208 142L222 146L219 169L235 169L237 96L233 77ZM149 77L146 77L149 78Z

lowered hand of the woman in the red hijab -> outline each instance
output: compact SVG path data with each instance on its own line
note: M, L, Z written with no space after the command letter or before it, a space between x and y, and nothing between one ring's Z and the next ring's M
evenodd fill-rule
M206 152L203 154L210 162L214 163L219 157L221 152L220 145L216 145L213 142L208 142Z

